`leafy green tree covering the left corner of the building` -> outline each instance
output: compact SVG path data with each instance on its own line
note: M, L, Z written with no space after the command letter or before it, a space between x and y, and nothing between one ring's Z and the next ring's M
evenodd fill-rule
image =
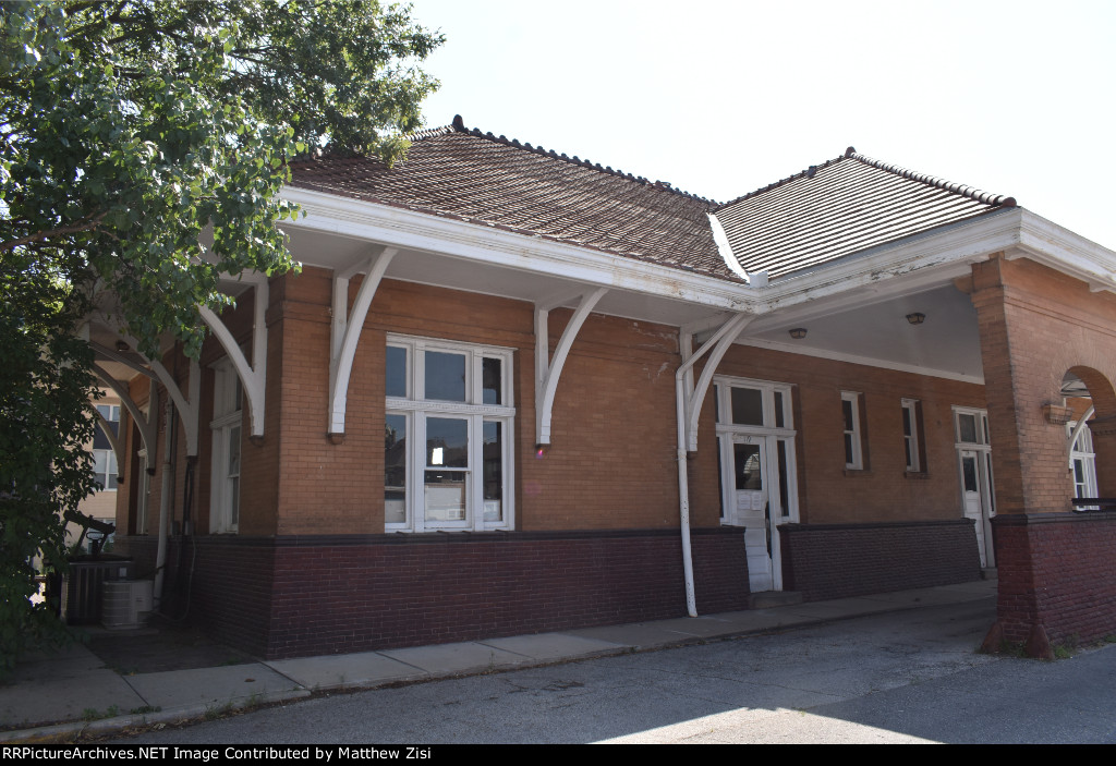
M294 265L287 162L401 157L442 37L359 0L6 2L0 23L2 673L28 620L48 624L27 561L58 559L57 514L93 486L83 318L196 356L221 272Z

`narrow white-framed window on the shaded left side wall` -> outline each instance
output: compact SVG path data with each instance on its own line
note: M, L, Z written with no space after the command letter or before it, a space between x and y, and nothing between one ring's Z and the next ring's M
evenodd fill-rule
M210 474L210 532L235 534L240 530L240 486L244 456L244 395L240 377L225 357L213 365L212 473ZM240 471L229 472L234 435L240 435ZM235 479L235 482L233 481ZM235 507L235 517L233 508Z

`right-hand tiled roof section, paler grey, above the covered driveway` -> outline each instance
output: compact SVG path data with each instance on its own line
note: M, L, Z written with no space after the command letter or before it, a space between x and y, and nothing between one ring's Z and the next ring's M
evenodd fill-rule
M849 147L840 157L720 205L714 214L744 270L775 279L1014 205L1011 197Z

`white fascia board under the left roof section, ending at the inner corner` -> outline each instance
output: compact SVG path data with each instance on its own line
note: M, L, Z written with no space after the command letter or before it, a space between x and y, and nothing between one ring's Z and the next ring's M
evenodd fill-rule
M286 187L306 216L285 226L329 232L475 263L545 273L596 287L661 295L730 311L754 312L743 284L622 255L321 192ZM311 263L312 261L305 261Z

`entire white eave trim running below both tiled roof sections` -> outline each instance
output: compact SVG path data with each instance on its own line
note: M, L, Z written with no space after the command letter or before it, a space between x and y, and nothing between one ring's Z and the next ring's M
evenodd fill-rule
M1116 292L1116 253L1021 207L879 245L771 283L749 285L321 192L286 187L282 196L307 213L283 225L745 313L782 312L819 299L828 299L821 301L825 303L839 301L843 293L855 300L864 289L888 292L929 288L968 273L971 263L997 252L1008 253L1009 258L1033 258L1088 282L1094 290Z

